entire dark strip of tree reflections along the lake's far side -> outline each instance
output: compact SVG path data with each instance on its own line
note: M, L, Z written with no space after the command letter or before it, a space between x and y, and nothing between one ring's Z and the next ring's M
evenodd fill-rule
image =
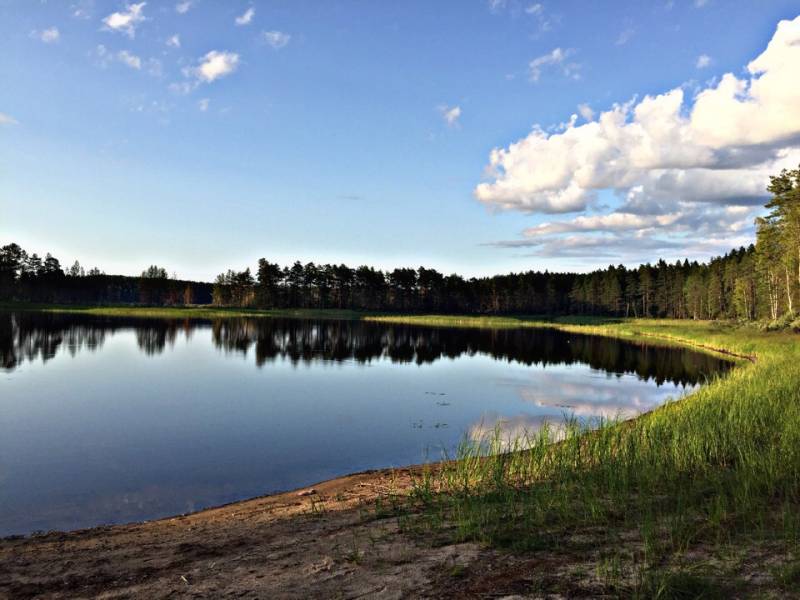
M0 358L6 369L23 360L47 360L59 348L71 354L99 347L106 335L133 329L142 352L159 354L208 322L169 319L96 318L82 315L0 313ZM441 358L485 354L526 365L588 364L612 374L635 373L657 383L702 382L729 363L707 354L546 329L446 329L364 321L307 319L217 319L214 344L247 354L256 364L277 358L292 362L389 359L432 363Z

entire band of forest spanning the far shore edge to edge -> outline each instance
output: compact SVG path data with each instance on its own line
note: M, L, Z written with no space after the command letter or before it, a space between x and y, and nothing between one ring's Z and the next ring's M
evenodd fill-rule
M401 313L605 315L791 322L800 303L800 168L770 177L756 241L701 263L659 260L591 273L526 271L466 279L435 269L306 264L265 258L213 284L84 272L76 262L0 248L0 300L64 304L213 304L259 309L337 308Z

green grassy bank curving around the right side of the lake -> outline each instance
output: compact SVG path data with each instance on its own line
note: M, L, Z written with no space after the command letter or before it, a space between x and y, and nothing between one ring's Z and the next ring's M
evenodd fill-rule
M414 510L404 522L431 540L561 557L577 565L576 581L586 575L581 559L593 556L592 576L612 596L717 597L761 589L784 597L800 589L797 334L660 320L391 320L546 325L751 357L634 421L566 421L524 439L498 432L482 444L465 443L457 461L417 480ZM549 591L565 591L558 587L563 581L553 585Z

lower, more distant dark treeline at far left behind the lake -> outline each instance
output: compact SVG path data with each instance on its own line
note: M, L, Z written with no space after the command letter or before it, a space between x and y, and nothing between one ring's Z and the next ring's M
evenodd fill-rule
M53 304L183 305L211 302L211 285L181 281L151 266L140 277L86 271L78 261L68 269L49 253L44 259L17 244L0 248L0 301Z

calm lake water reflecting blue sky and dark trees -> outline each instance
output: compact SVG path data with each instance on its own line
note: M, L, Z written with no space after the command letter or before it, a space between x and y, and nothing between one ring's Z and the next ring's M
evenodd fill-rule
M728 368L542 329L0 312L0 535L153 519L630 417Z

